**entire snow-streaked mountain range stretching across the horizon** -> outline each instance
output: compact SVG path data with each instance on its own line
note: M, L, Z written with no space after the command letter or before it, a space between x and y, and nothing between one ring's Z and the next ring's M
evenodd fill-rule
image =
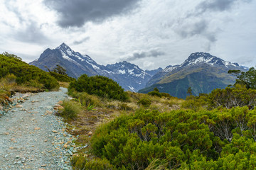
M65 43L52 50L46 49L30 64L46 71L46 67L52 70L58 64L66 69L70 77L102 75L117 81L127 91L148 93L157 87L159 91L178 98L186 98L188 87L196 96L208 94L216 88L223 89L235 82L235 77L228 74L228 70L240 69L246 72L248 69L206 52L192 53L182 64L169 65L165 69L143 70L125 61L104 66L97 64L88 55L75 52Z

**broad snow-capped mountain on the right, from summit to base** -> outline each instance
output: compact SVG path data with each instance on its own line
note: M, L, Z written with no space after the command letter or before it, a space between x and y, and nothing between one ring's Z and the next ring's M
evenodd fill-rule
M193 95L210 93L213 89L223 89L234 84L235 77L228 74L230 69L247 71L247 67L238 63L226 62L206 52L192 53L185 62L168 66L156 73L139 92L147 93L157 87L161 92L178 98L186 98L186 91L191 86Z

